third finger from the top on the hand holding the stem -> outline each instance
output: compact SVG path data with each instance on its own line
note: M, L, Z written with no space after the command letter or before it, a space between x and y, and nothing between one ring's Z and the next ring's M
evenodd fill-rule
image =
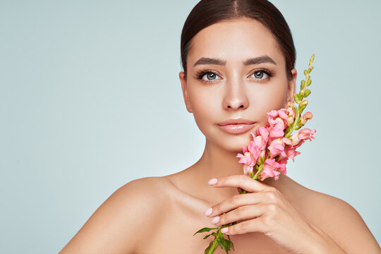
M219 225L229 224L231 222L255 219L257 217L262 216L264 212L265 212L265 207L263 205L245 205L245 206L238 207L230 212L227 212L226 214L221 214L218 217L218 219L214 219L217 217L214 217L213 219L214 219L214 222L216 222L215 224L219 226ZM212 222L213 222L213 219L212 219Z

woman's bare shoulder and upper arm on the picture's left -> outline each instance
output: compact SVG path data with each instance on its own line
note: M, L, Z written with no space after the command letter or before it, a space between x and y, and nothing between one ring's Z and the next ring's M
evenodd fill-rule
M121 186L60 253L136 253L147 230L155 233L170 184L164 177L147 177Z

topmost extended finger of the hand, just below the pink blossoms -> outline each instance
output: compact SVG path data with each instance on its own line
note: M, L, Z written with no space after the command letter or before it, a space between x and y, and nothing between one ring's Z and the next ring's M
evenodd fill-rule
M210 182L213 182L211 180ZM267 186L265 183L255 181L250 176L246 176L244 174L233 176L221 176L217 178L217 183L210 185L213 187L241 187L248 192L264 191L266 188L270 187Z

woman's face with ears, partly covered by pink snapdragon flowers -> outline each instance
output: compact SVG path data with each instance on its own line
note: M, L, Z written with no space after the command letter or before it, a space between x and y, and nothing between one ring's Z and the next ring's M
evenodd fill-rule
M294 101L296 70L287 80L285 64L272 33L257 20L226 20L198 32L188 53L187 77L179 75L186 107L207 142L241 152L252 140L250 132L267 123L268 111ZM222 122L233 119L253 124L224 131Z

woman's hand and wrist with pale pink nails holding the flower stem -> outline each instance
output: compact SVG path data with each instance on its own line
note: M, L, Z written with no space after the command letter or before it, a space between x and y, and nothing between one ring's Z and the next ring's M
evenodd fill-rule
M213 223L224 225L237 222L222 229L222 233L235 235L261 232L291 253L344 253L276 188L246 175L219 177L217 183L211 186L240 187L248 191L211 207L212 213L207 216L214 217ZM207 211L210 212L210 209Z

